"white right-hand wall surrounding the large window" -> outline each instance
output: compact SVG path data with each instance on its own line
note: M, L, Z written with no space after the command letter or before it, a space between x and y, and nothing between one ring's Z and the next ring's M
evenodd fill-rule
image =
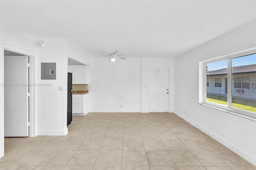
M256 122L198 104L198 77L200 61L255 47L255 30L254 20L176 57L174 111L254 165Z

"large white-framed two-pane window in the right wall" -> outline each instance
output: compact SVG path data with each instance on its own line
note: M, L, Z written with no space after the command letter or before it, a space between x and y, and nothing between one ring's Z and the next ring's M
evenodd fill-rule
M204 67L200 103L256 120L255 51L253 48L200 62L200 68ZM209 86L211 83L214 86Z

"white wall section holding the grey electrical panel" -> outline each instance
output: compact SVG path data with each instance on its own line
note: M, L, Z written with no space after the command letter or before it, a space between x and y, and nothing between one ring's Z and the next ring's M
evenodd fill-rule
M38 71L38 83L52 85L38 87L38 134L65 135L68 132L66 41L50 38L43 41L46 46L38 50L38 69L41 69L41 63L56 63L56 80L41 80L41 71ZM58 87L62 87L63 91L58 91Z

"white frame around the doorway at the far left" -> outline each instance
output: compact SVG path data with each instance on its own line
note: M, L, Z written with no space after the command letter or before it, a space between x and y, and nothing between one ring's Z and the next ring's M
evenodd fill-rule
M0 45L0 157L4 156L4 50L30 56L30 83L38 83L37 74L37 54L1 43ZM38 89L36 86L30 87L30 123L29 136L37 136L38 124Z

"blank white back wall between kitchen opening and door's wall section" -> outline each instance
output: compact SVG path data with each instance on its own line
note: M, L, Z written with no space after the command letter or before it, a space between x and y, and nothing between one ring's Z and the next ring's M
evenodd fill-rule
M140 59L93 58L89 94L90 112L140 112Z

